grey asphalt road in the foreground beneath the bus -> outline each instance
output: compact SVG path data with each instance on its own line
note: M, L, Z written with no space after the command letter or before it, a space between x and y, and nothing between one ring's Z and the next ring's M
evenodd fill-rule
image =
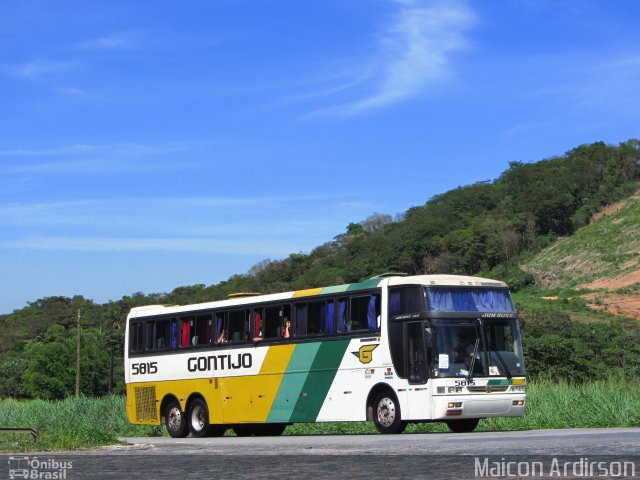
M3 455L0 479L25 465L28 478L65 479L640 477L638 428L123 440L128 445Z

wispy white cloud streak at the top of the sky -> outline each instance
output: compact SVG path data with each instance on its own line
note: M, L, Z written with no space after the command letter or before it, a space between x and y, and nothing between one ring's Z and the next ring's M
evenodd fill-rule
M312 116L351 116L425 94L451 74L450 55L465 47L473 13L462 3L397 1L400 11L380 37L372 93Z

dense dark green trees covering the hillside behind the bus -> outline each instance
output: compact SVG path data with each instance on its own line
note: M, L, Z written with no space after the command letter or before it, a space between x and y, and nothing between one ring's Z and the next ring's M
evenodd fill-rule
M0 397L63 398L74 391L78 311L84 344L81 391L102 395L123 390L124 319L133 306L349 283L385 271L480 274L503 279L516 291L531 287L533 275L518 265L553 240L587 225L603 206L635 192L639 181L638 140L618 146L598 142L537 163L512 162L494 181L437 195L396 219L373 214L349 224L343 234L309 253L265 260L247 274L216 285L136 293L104 305L81 296L36 300L0 316ZM540 311L525 303L522 313L526 360L533 377L586 380L604 378L603 372L610 369L635 372L628 360L637 358L631 345L638 344L637 327L607 322L594 327L594 338L616 339L619 343L611 345L629 345L629 355L636 355L618 364L606 345L590 340L570 316L563 317L566 312L551 306ZM574 343L580 348L572 348ZM576 370L566 365L583 361L587 369L570 375Z

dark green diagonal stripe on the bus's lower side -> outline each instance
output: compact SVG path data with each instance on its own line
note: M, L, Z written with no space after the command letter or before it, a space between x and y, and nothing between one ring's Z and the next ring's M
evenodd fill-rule
M320 345L291 414L291 422L313 422L318 418L348 345L349 340L328 341Z

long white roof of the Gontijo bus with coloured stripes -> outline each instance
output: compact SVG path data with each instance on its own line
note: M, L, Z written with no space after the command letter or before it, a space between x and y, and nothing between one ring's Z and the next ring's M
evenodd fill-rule
M228 300L217 300L206 303L192 305L145 305L134 307L129 314L130 317L140 317L149 315L161 315L178 312L198 312L212 308L228 308L254 303L269 301L282 301L292 298L302 298L316 295L327 295L332 293L354 292L359 290L371 290L381 286L383 282L388 282L389 286L399 285L427 285L427 286L449 286L449 287L492 287L506 288L507 284L498 280L488 278L470 277L464 275L389 275L382 274L363 280L358 283L347 283L344 285L333 285L329 287L310 288L306 290L296 290L292 292L272 293L266 295L256 295L251 297L230 298Z

